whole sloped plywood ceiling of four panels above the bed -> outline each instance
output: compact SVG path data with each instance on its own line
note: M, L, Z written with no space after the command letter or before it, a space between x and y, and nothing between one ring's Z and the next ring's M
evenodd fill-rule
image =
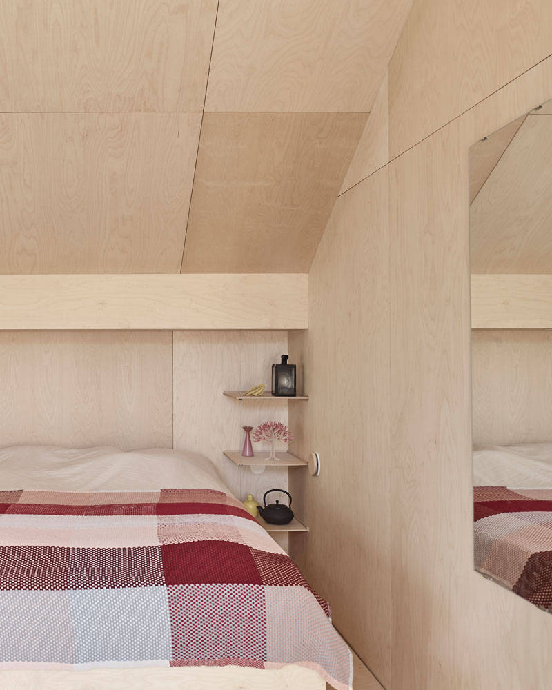
M0 273L305 272L411 0L3 0Z

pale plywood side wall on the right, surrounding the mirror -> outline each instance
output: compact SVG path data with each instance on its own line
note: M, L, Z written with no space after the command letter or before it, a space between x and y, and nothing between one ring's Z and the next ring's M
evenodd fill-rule
M290 423L304 426L304 451L323 460L320 477L303 486L309 513L322 502L325 511L323 524L311 520L306 576L331 602L362 598L364 608L341 611L336 623L393 690L549 685L552 617L473 571L468 149L552 96L551 27L542 0L522 14L514 2L414 1L373 108L379 124L368 119L313 262L310 329L290 337L317 391ZM325 246L340 225L353 229L336 270L344 264L354 277L335 283L331 304L342 313L333 326L317 295L326 293L335 257ZM356 262L356 226L388 232L389 290L373 291L372 304L357 297L370 264ZM376 307L389 314L386 376L372 359L380 322L366 314ZM375 400L368 440L351 424L346 384L355 376L369 389L355 384L358 399ZM328 560L344 552L345 575ZM384 653L371 644L376 626L390 640Z

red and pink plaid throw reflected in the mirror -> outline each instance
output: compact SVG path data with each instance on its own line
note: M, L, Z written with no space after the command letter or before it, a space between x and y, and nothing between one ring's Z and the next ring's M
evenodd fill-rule
M473 489L475 569L552 613L552 489Z

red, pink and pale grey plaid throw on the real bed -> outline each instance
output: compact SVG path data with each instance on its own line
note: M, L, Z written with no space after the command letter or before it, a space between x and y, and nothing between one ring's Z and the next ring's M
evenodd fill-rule
M329 615L219 491L0 492L0 668L295 663L346 690Z

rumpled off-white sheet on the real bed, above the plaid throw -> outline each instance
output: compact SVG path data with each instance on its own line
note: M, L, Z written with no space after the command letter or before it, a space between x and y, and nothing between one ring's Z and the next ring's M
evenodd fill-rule
M0 490L10 489L216 489L230 493L204 455L161 448L121 451L110 446L0 449Z

